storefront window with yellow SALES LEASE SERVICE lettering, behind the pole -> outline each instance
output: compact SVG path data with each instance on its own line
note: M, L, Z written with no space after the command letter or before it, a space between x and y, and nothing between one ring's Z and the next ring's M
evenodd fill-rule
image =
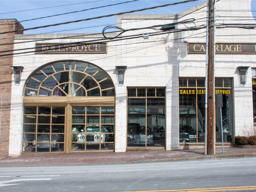
M204 143L205 79L179 79L180 142ZM215 109L216 143L221 142L221 120L225 143L233 142L231 79L215 79L215 95L222 93L222 119L220 108ZM256 91L255 91L256 92Z

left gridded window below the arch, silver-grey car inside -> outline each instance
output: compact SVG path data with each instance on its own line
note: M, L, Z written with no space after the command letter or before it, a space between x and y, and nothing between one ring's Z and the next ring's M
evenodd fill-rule
M65 107L24 107L23 153L64 152Z

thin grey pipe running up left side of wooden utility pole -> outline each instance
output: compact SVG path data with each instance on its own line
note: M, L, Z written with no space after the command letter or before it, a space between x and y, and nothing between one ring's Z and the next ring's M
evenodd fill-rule
M205 86L205 105L204 105L204 155L207 155L207 81L208 81L208 12L209 0L207 0L207 21L206 21L206 86Z

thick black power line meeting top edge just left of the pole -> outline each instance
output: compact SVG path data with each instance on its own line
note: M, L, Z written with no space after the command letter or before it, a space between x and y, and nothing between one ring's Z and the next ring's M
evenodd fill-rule
M165 5L159 5L159 6L155 6L155 7L148 7L148 8L139 9L139 10L120 12L120 13L117 13L117 14L103 15L103 16L98 16L98 17L93 17L93 18L73 20L73 21L63 22L63 23L56 23L56 24L52 24L52 25L45 25L45 26L39 26L39 27L31 27L31 28L27 28L27 29L18 29L18 30L13 30L13 31L4 31L4 32L1 32L0 34L13 33L13 32L17 32L17 31L27 31L27 30L32 30L32 29L41 29L41 28L45 28L45 27L52 27L52 26L58 26L58 25L65 25L65 24L69 24L69 23L76 23L76 22L81 22L81 21L86 21L86 20L93 20L93 19L105 18L105 17L115 16L115 15L128 14L128 13L133 13L133 12L138 12L138 11L151 10L151 9L155 9L155 8L159 8L159 7L167 7L167 6L170 6L170 5L177 5L177 4L188 3L188 2L192 2L192 1L198 1L198 0L187 0L187 1L177 2L177 3L170 3L170 4L165 4Z

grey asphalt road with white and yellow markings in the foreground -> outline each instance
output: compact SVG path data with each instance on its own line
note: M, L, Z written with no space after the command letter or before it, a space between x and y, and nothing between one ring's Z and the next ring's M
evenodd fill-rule
M234 188L244 186L255 187ZM226 190L225 187L230 188ZM256 191L256 158L90 166L0 167L1 192L215 190L203 188L225 188L216 189L218 191Z

